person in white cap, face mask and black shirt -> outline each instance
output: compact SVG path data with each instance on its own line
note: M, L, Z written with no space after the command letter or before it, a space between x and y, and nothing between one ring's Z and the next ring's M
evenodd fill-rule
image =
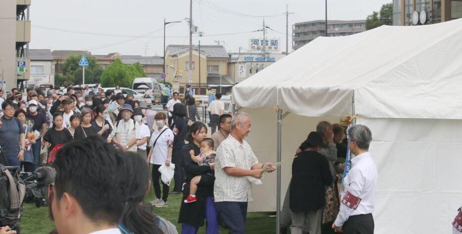
M46 134L46 117L37 111L38 107L39 103L36 100L30 100L28 112L26 114L26 118L34 122L32 130L40 134L40 136L36 136L36 143L32 145L32 156L34 157L35 165L32 171L35 171L35 169L40 166L40 147L42 146L42 137Z

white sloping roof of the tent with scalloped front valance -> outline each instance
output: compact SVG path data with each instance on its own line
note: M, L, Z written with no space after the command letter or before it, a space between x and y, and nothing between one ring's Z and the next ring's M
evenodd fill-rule
M232 89L305 116L462 119L462 19L320 37Z

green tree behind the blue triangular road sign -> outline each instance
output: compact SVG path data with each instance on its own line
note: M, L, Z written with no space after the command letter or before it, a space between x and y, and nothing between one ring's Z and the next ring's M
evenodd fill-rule
M101 65L97 64L97 58L93 55L87 55L89 66L85 68L85 83L98 84L102 74ZM62 65L63 75L55 76L55 84L60 86L64 84L80 85L82 84L83 68L79 66L81 54L70 54Z

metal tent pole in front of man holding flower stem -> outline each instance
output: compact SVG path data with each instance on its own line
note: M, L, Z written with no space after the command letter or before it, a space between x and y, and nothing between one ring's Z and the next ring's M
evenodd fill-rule
M282 141L282 109L277 110L277 158L281 161L281 141ZM281 170L280 165L276 169L276 233L280 230L280 212L281 212Z

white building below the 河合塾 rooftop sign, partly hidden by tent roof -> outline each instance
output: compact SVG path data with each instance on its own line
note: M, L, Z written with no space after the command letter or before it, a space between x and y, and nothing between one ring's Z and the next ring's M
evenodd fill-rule
M285 56L283 53L270 53L265 59L264 53L229 53L229 55L228 76L233 84L249 78Z

